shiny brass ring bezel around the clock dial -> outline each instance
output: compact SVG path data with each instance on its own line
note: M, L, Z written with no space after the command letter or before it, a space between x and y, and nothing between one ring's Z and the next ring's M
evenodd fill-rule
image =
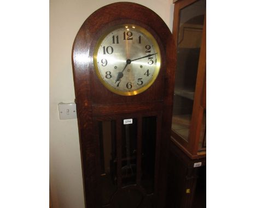
M146 35L147 38L150 41L152 41L152 43L154 45L154 48L155 48L155 51L157 53L157 55L156 55L157 56L156 69L154 71L154 75L152 76L152 78L150 79L150 81L146 85L144 85L143 87L141 87L139 89L133 90L133 91L118 90L118 89L114 88L112 85L110 85L109 83L107 83L106 81L104 81L104 79L102 79L102 77L101 77L100 70L98 69L98 64L97 64L97 53L98 53L98 50L100 48L101 42L104 40L104 38L106 38L106 36L109 33L113 32L113 30L116 30L116 29L119 29L119 28L125 28L125 26L135 27L136 30L138 30L140 33L143 33L144 35ZM147 90L155 82L156 77L158 77L160 67L161 67L161 53L160 53L160 48L159 48L158 42L155 40L154 36L150 32L148 32L147 29L145 29L141 26L135 25L135 24L130 24L129 23L129 24L122 24L122 25L117 25L117 26L111 27L110 29L106 30L100 36L100 38L98 39L98 41L95 45L95 48L94 48L94 69L96 71L97 77L100 79L100 81L104 85L104 87L106 87L108 90L110 90L113 93L118 94L118 95L124 95L124 96L137 95L137 94L142 93L143 91Z

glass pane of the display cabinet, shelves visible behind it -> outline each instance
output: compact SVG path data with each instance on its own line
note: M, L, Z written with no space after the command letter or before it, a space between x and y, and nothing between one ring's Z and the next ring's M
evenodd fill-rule
M193 112L205 10L206 1L199 0L179 12L172 130L187 141Z

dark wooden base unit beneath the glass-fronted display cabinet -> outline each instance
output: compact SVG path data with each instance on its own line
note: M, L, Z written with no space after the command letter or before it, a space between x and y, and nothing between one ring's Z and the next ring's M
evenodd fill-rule
M191 158L171 140L168 142L167 207L206 207L206 158ZM195 167L195 163L200 164ZM200 186L203 183L204 187ZM189 189L189 193L187 190ZM199 205L199 206L197 206Z

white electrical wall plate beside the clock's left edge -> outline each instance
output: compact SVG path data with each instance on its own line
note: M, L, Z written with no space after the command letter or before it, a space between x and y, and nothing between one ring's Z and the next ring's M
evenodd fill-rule
M77 118L77 106L75 105L75 103L60 102L58 106L61 120Z

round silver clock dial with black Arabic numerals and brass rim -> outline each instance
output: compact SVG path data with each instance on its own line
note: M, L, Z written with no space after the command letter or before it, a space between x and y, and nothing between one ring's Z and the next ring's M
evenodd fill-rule
M94 51L96 73L109 90L136 95L153 84L160 69L159 46L146 29L121 25L104 34Z

